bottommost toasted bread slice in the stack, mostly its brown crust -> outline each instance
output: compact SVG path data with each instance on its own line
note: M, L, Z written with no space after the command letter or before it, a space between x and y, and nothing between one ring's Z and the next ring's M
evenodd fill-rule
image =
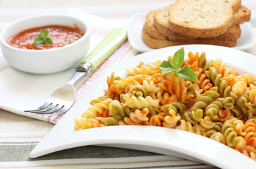
M228 47L236 46L236 40L221 41L216 39L207 39L207 40L193 39L193 40L184 40L184 41L170 41L170 40L163 40L163 39L154 39L147 34L145 30L145 25L142 29L142 41L147 46L150 46L151 48L154 48L154 49L159 49L167 46L182 45L182 44L213 44L213 45L228 46Z

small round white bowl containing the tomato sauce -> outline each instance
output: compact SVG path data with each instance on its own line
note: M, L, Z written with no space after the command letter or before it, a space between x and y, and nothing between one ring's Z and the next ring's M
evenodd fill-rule
M78 41L56 49L19 49L7 43L8 38L23 30L44 25L77 25L85 35ZM18 70L28 73L56 73L71 68L87 54L90 46L90 29L85 21L69 15L35 15L16 20L4 27L0 34L1 51L6 60Z

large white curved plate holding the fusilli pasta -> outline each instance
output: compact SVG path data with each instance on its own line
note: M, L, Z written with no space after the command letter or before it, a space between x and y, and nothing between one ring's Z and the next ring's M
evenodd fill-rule
M211 45L183 45L185 56L188 51L195 53L206 52L207 59L221 58L228 67L233 67L240 73L256 75L256 57L243 51L223 46ZM255 168L256 162L228 146L207 137L185 132L177 129L153 126L108 126L96 127L86 130L74 130L75 118L90 106L92 99L104 94L106 77L115 72L118 76L125 76L126 68L134 68L140 61L155 63L158 59L163 61L181 46L171 46L145 52L133 58L128 58L118 65L109 68L102 78L98 80L87 94L83 96L51 131L42 139L30 153L30 158L36 158L54 151L70 149L78 146L100 145L126 149L150 151L169 156L187 158L200 163L215 165L219 168ZM185 58L187 59L187 58ZM246 70L245 66L246 65Z

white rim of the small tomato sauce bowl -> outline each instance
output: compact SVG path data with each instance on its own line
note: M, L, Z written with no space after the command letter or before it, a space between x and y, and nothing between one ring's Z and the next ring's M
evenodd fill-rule
M83 37L81 37L80 39L78 39L77 41L75 41L75 42L73 42L71 44L67 44L65 46L61 46L61 47L54 48L54 49L44 49L44 50L20 49L20 48L17 48L15 46L11 46L4 39L4 37L3 37L4 33L6 32L6 30L8 30L8 28L13 27L13 26L15 26L17 24L22 24L25 20L33 20L33 19L36 19L36 18L43 18L43 17L64 17L64 18L71 18L72 20L77 20L78 22L83 23L83 25L85 25L85 32L84 32L85 34L83 35ZM47 22L46 22L45 25L49 25L49 24L47 24ZM61 25L61 24L58 24L58 25ZM63 26L65 26L65 25L63 24ZM37 26L35 26L35 27L37 27ZM31 27L31 28L33 28L33 27ZM28 28L28 29L30 29L30 28ZM20 32L22 32L22 31L23 30L20 30ZM17 32L16 34L18 34L18 33L19 32ZM14 35L16 35L16 34L14 34ZM10 37L12 37L12 36L13 35L11 35ZM74 46L75 44L80 43L83 39L88 38L88 37L90 37L90 27L89 27L88 23L85 20L82 20L82 19L80 19L78 17L72 16L72 15L67 15L67 14L59 14L59 13L58 14L56 14L56 13L50 14L50 13L47 13L47 14L38 14L38 15L26 16L26 17L19 18L18 20L14 20L13 22L9 23L0 32L0 43L3 46L5 46L6 48L14 50L14 51L30 52L30 53L39 53L39 52L46 53L46 52L52 52L52 51L65 50L66 48L69 48L71 46Z

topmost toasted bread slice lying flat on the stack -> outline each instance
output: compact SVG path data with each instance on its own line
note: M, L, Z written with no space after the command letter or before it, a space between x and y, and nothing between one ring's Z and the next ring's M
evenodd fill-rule
M169 8L169 29L189 37L217 37L231 27L233 8L224 0L178 0Z

